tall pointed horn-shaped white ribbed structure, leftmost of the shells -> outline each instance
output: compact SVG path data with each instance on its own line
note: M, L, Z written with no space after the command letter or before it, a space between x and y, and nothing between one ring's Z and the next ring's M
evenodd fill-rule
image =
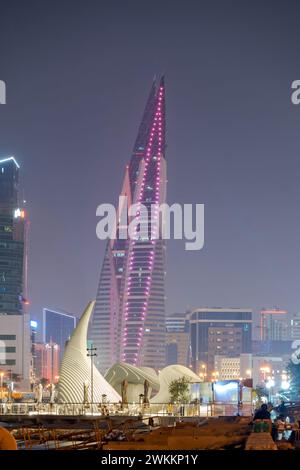
M100 403L102 395L106 395L110 403L121 400L120 395L94 365L92 371L91 360L87 357L87 330L94 304L95 302L89 302L87 305L65 348L59 372L57 396L59 403L83 403L86 390L89 401L94 403Z

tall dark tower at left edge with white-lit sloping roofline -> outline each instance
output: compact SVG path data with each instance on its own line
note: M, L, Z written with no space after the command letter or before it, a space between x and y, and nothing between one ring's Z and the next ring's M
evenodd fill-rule
M29 385L27 214L19 200L14 157L0 160L0 367Z

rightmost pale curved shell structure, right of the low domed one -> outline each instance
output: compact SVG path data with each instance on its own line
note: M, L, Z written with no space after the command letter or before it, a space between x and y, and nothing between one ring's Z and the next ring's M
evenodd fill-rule
M171 396L169 393L169 386L173 380L185 377L190 383L200 382L200 378L193 371L187 367L175 364L167 366L158 374L159 377L159 392L151 398L151 403L170 403Z

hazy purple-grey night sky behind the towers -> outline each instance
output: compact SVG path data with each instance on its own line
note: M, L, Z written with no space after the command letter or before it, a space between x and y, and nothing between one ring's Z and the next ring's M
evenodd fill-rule
M80 314L153 76L167 96L168 202L205 204L205 247L167 251L167 313L300 311L298 1L0 1L0 156L30 216L31 313Z

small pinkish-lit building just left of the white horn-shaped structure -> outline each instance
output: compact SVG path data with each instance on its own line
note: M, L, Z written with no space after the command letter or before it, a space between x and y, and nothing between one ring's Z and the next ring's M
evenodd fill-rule
M57 383L59 379L59 345L49 343L35 344L35 379L47 379L49 383Z

